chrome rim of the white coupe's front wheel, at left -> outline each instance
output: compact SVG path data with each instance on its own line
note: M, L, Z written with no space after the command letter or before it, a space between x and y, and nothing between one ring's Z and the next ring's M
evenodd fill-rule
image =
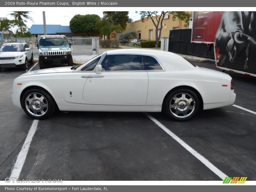
M33 92L26 97L25 106L28 113L39 117L47 112L48 101L41 93Z

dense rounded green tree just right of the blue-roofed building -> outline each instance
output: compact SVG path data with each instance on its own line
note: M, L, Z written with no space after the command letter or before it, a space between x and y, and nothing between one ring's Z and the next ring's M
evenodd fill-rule
M100 20L99 15L75 15L69 21L69 27L73 33L86 33L92 36L94 33L99 33L96 29L96 22Z

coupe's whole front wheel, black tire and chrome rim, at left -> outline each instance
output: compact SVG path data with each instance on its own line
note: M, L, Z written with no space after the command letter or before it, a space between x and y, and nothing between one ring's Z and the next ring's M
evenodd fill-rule
M22 96L21 106L25 113L34 119L45 119L56 109L52 96L41 89L26 91Z

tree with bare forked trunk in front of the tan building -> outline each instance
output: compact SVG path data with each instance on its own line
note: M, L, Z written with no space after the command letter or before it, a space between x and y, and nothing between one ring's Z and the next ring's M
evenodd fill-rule
M172 15L172 20L176 20L178 18L180 20L185 21L186 25L188 25L190 14L184 11L167 11L167 12L161 11L160 15L158 15L157 11L140 11L141 20L144 21L145 17L150 18L154 26L156 27L156 46L157 47L161 37L162 29L163 29L164 16L167 13L170 13ZM156 19L154 17L156 17ZM159 29L159 35L158 35L158 29Z

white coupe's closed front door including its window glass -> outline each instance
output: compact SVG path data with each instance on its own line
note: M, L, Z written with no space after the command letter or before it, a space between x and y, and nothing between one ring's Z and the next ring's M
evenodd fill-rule
M98 104L146 104L148 74L143 55L110 54L84 85L83 99Z

